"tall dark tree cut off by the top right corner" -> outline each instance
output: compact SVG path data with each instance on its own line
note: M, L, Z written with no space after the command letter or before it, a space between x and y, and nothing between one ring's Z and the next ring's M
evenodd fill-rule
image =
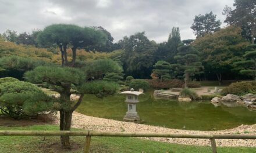
M226 5L223 14L226 15L225 23L237 25L242 28L243 37L255 42L256 37L256 1L234 0L234 9Z

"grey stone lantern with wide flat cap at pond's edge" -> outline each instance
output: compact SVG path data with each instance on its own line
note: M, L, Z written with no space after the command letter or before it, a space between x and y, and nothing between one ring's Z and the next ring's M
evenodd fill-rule
M143 92L136 92L133 88L130 91L122 92L120 94L126 94L126 103L128 110L126 115L123 117L123 121L140 121L140 116L136 112L136 103L138 103L138 95L143 94Z

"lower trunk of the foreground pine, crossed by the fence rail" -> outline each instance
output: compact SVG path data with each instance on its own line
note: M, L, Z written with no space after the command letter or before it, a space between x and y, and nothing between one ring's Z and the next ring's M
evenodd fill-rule
M59 124L60 130L70 130L73 111L60 110L59 112L61 116ZM69 136L61 136L61 144L63 148L71 148Z

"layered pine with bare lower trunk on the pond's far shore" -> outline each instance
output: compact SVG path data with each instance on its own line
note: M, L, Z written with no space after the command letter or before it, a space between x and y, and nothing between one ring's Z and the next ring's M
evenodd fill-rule
M182 72L185 75L185 88L189 83L189 77L202 70L199 52L190 45L180 46L174 59L177 63L171 64L174 73Z

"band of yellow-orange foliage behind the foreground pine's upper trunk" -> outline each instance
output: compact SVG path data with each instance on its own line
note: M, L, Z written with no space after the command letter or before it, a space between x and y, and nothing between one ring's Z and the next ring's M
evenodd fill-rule
M61 64L61 52L59 49L55 49L55 53L50 49L35 48L29 45L16 45L13 42L0 41L0 57L3 56L21 56L30 57L35 60L44 60L56 64ZM95 59L114 58L123 53L123 50L115 50L110 53L105 52L87 52L84 49L77 49L77 60L89 61ZM72 50L67 49L67 59L72 60Z

